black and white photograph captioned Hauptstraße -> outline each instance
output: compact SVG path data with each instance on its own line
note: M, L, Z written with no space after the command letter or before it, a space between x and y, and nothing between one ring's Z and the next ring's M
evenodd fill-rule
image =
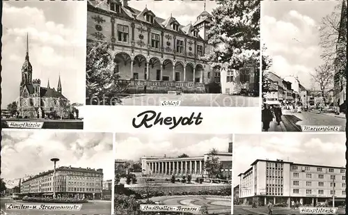
M342 133L236 134L233 214L301 214L301 207L345 214L345 141Z

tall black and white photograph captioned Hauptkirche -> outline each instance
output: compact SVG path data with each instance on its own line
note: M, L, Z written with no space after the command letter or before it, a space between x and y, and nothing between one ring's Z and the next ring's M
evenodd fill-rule
M1 127L83 129L86 2L5 1L2 24Z

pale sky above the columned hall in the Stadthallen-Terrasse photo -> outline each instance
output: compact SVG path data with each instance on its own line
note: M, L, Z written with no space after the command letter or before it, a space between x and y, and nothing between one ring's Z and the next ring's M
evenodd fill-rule
M139 161L140 157L202 156L212 148L228 152L231 134L116 134L115 159Z

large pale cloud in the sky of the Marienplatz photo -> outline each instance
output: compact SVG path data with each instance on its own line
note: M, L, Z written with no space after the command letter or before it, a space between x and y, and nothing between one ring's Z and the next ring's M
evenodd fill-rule
M276 13L276 12L274 12ZM296 10L283 17L267 13L261 19L261 38L273 59L270 71L286 77L294 75L307 88L317 87L311 74L322 64L317 22Z

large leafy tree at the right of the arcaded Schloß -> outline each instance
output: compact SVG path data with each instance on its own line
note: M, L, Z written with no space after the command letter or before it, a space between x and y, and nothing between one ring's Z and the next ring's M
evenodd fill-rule
M260 56L260 1L216 1L209 26L209 56L213 69L239 70L258 65Z

